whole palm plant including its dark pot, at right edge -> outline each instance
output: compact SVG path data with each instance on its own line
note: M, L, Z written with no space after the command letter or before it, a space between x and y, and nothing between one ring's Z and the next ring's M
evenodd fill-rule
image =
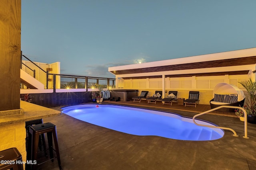
M256 124L256 82L252 82L252 79L250 78L249 80L239 82L244 86L248 93L247 97L247 106L246 107L246 112L247 112L247 121L249 123L254 123Z

